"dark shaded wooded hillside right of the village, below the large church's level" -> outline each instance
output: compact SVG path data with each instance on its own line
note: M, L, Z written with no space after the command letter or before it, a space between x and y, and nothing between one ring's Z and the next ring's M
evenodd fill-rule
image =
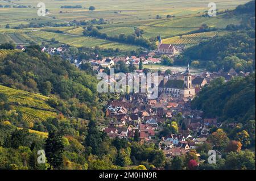
M224 83L216 79L192 101L192 107L204 111L204 117L246 123L255 120L255 73Z

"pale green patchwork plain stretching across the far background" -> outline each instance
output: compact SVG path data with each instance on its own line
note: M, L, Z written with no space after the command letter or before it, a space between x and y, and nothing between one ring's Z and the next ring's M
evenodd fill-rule
M40 0L13 0L10 2L0 0L0 5L25 5L29 8L0 8L0 44L13 41L15 44L26 44L34 41L38 44L42 41L49 41L52 37L60 43L77 47L119 48L124 51L137 49L137 46L119 44L93 37L82 37L82 27L45 27L54 30L64 31L61 33L50 33L44 28L31 28L29 30L14 30L12 27L19 24L38 22L69 23L72 20L90 20L104 18L107 24L100 25L102 33L109 36L125 33L134 33L134 28L144 31L143 37L149 39L162 35L163 39L184 35L188 32L198 30L201 24L205 23L210 27L221 30L228 24L238 24L241 19L233 17L226 18L224 15L217 15L212 18L204 18L201 15L207 11L208 3L211 1L188 1L188 0L45 0L46 9L49 13L46 16L38 16L38 3ZM217 10L234 9L237 5L248 2L248 0L217 0L214 1ZM60 6L81 5L82 9L61 9ZM88 7L96 7L95 11L89 11ZM61 11L61 13L60 13ZM175 18L166 18L166 15L175 15ZM156 15L161 18L156 19ZM36 19L35 19L36 18ZM10 29L5 28L10 24ZM19 35L17 35L19 33ZM166 41L166 40L165 40Z

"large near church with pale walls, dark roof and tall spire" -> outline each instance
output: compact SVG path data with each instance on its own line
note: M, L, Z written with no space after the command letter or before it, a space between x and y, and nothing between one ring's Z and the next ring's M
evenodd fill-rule
M192 86L192 74L189 64L183 73L183 80L163 79L159 83L160 94L168 94L174 98L189 98L195 96L195 87Z

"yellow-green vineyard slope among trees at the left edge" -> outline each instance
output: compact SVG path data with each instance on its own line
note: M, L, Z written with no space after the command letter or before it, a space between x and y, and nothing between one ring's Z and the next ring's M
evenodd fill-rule
M47 96L2 85L0 85L0 93L7 95L14 110L23 112L23 119L26 121L33 122L36 119L43 121L48 117L56 117L57 115L56 110L46 103L49 99Z

